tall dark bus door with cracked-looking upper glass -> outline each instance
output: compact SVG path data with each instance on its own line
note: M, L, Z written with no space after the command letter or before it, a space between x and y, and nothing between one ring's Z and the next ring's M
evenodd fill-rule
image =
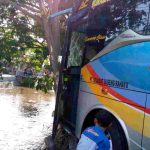
M84 27L71 26L70 41L67 52L65 69L63 70L63 88L61 99L63 101L63 120L72 129L75 129L77 99L80 82L80 70L84 58Z

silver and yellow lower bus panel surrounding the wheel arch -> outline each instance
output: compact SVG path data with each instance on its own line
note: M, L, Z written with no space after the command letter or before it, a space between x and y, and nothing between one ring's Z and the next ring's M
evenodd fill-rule
M81 82L80 92L79 92L79 101L78 101L78 111L77 111L77 122L76 122L76 135L79 138L81 134L81 128L85 117L87 114L97 108L107 109L109 112L114 114L115 117L124 121L126 128L128 130L130 148L134 150L140 150L141 145L141 133L133 130L129 127L127 123L132 123L134 126L138 126L138 130L142 132L141 120L143 120L144 114L139 117L135 117L136 111L130 109L127 104L121 103L116 99L110 99L103 97L102 95L94 94L95 84L90 84L87 82ZM132 113L132 115L131 115ZM94 119L94 118L93 118ZM127 121L127 122L126 122Z

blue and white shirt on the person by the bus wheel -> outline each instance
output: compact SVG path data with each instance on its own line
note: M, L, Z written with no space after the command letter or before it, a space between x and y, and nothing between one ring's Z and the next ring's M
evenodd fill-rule
M100 127L93 126L83 131L77 150L110 150L110 142Z

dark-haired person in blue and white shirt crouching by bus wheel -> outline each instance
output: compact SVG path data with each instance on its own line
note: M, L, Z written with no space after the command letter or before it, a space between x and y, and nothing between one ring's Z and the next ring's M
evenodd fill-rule
M81 135L76 150L110 150L110 142L105 132L112 124L112 116L100 110L94 118L95 126L88 127Z

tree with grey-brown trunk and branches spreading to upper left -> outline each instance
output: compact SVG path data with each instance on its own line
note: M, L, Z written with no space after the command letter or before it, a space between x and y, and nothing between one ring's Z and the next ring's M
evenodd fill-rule
M59 68L57 57L61 50L60 24L59 18L49 20L48 15L59 10L59 2L60 0L0 0L0 12L3 18L1 23L7 21L10 24L16 23L18 25L17 18L22 16L30 20L25 20L28 26L32 24L32 26L41 27L43 38L47 41L50 62L54 73ZM7 12L4 13L6 9Z

